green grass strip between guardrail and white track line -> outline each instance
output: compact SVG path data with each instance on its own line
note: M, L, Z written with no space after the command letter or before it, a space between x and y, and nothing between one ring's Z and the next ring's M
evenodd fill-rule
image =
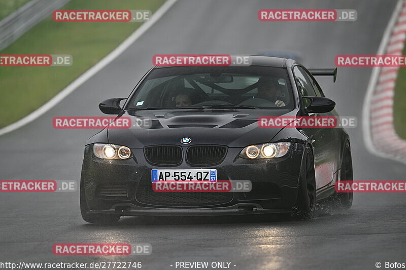
M3 0L2 0L3 1ZM151 10L165 0L72 0L66 10ZM142 22L54 22L51 16L0 54L70 54L69 67L0 67L0 128L37 109L116 48ZM16 108L18 104L18 109Z

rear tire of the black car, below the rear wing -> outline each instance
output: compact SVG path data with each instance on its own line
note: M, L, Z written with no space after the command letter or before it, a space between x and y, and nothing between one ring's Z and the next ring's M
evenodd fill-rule
M350 143L347 141L344 146L344 155L341 162L340 180L352 181L352 157ZM353 192L335 192L337 206L342 209L350 209L353 201Z

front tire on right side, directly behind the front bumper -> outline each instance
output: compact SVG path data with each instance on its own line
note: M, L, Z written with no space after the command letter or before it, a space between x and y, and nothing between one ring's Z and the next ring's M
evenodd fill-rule
M309 218L313 216L315 208L316 175L314 170L314 158L310 147L306 146L300 168L295 214L302 218Z

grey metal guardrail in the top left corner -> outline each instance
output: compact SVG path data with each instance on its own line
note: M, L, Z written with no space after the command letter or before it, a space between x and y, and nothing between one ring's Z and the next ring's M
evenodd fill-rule
M0 21L0 51L71 0L31 0Z

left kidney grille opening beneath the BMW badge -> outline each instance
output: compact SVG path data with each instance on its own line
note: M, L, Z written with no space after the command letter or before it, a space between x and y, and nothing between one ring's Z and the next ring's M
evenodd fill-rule
M153 165L174 166L182 163L182 148L177 145L147 146L144 154Z

